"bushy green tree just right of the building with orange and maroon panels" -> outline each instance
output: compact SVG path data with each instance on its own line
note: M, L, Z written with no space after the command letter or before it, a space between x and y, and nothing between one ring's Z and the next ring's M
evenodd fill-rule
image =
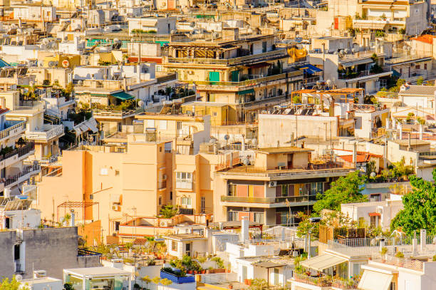
M362 195L365 177L359 176L355 171L347 176L339 177L338 180L331 182L331 188L324 194L316 195L317 201L313 204L315 212L323 209L341 210L341 204L350 202L365 202L367 199Z

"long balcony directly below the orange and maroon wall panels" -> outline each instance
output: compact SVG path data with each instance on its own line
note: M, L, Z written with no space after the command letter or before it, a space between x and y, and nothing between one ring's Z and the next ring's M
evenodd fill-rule
M291 197L235 197L229 195L221 196L222 202L257 203L266 204L266 207L284 207L313 204L316 202L316 195L301 195Z

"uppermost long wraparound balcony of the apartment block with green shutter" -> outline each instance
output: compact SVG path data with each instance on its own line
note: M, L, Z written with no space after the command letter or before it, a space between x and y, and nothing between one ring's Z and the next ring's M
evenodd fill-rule
M278 49L276 51L269 51L266 53L257 53L251 56L240 56L237 58L168 58L168 63L201 63L201 64L217 64L223 66L242 66L244 64L252 63L253 61L270 61L278 58L285 58L288 56L286 49Z

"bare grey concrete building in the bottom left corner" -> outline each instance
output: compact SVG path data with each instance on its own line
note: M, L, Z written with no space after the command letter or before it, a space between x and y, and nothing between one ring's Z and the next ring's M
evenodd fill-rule
M61 279L64 268L100 264L100 256L78 252L77 227L9 230L0 232L0 241L0 272L9 279L15 274L30 279L35 269Z

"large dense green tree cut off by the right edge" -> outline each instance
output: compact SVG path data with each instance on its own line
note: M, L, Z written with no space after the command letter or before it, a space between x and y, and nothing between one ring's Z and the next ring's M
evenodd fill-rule
M436 169L433 170L433 180L436 182ZM404 209L392 220L390 229L402 229L407 234L427 229L429 234L436 234L435 183L412 175L410 185L412 192L403 195Z

